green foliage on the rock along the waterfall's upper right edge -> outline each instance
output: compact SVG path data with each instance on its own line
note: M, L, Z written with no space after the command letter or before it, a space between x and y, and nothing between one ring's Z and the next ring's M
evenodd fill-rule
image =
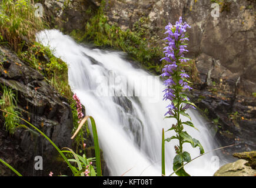
M140 19L138 22L144 22L145 19ZM135 61L141 63L144 68L155 72L160 72L160 66L155 65L159 62L162 53L159 47L149 46L148 30L139 27L139 23L135 23L134 31L127 29L122 31L117 24L108 24L108 19L104 16L102 6L95 16L93 16L87 25L85 31L72 31L71 36L77 39L78 42L91 42L97 46L107 46L114 49L128 52L128 55Z

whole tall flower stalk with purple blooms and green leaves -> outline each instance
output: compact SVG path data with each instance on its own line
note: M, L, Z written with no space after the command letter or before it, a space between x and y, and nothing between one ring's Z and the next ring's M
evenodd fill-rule
M179 17L179 21L177 21L175 25L168 24L165 26L165 29L167 30L165 33L168 33L168 36L164 40L167 41L166 43L168 46L164 48L165 57L161 59L161 61L167 62L167 65L164 66L161 74L162 78L165 79L164 84L166 86L165 90L163 90L163 100L169 100L170 102L167 106L168 111L164 116L166 118L175 118L177 120L177 124L172 125L172 127L167 130L174 130L176 135L165 139L167 142L172 139L178 139L179 141L179 145L175 146L177 155L174 157L173 162L174 171L184 166L184 162L189 162L189 160L191 160L189 153L183 150L182 145L184 143L190 143L192 147L198 146L200 147L200 154L204 153L204 149L200 142L184 131L184 125L194 127L191 122L191 117L188 113L185 113L185 111L188 108L196 108L195 104L192 103L185 94L186 91L192 89L189 86L189 83L191 82L187 79L189 78L189 75L187 75L183 69L184 66L188 66L186 62L190 60L184 57L184 52L188 52L186 49L186 42L189 41L187 28L191 27L186 22L183 23L181 17ZM182 122L181 115L188 117L190 121ZM189 176L183 167L175 173L178 176Z

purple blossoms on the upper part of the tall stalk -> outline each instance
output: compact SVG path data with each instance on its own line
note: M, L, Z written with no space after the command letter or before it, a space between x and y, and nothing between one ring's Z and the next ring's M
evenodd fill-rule
M184 58L184 52L188 52L187 45L184 43L185 41L189 41L186 35L187 28L191 28L186 22L182 23L182 17L179 17L179 21L175 23L175 25L168 24L165 26L167 30L165 33L168 33L167 40L168 46L164 47L165 57L161 59L161 61L168 62L167 65L162 69L162 78L165 78L164 84L167 87L164 92L163 100L174 100L175 96L175 86L181 86L182 91L191 90L192 88L188 85L187 78L189 76L185 73L184 70L180 70L180 63L187 62L189 59ZM175 80L175 72L179 70L179 80ZM184 99L184 98L183 98ZM182 99L182 100L183 100ZM187 98L188 99L188 98ZM184 99L185 100L185 99ZM189 100L189 99L188 99ZM174 103L171 102L171 105L167 106L168 111L165 113L167 115L174 115L173 110L177 110L175 108ZM188 108L194 108L192 105L185 104L181 108L181 110L185 110Z

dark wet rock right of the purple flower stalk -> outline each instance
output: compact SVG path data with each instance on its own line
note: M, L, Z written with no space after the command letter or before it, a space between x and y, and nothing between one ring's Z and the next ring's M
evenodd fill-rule
M224 149L231 153L256 149L255 99L235 96L232 89L226 93L222 89L194 89L191 100L215 127L215 137L222 146L237 144ZM215 120L215 122L214 122Z

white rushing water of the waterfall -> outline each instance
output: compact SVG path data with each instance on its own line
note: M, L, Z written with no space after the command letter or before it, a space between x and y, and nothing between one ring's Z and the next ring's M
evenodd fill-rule
M163 127L169 129L174 119L164 119L168 102L162 100L164 85L159 77L134 68L123 53L87 48L57 30L39 32L37 40L67 62L69 85L87 115L95 119L110 175L126 172L124 176L160 176L161 131ZM195 110L187 112L200 132L192 127L185 130L201 142L206 152L212 150L206 123ZM167 174L172 172L177 143L172 140L165 145ZM185 144L184 150L191 153L191 158L200 154L198 147ZM192 176L212 176L219 166L218 157L210 153L187 164L185 170Z

